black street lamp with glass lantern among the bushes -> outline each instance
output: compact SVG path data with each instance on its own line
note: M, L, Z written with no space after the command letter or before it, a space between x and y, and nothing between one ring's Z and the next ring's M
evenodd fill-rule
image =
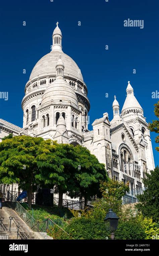
M119 218L117 217L116 213L112 209L109 209L104 221L105 221L107 230L112 231L111 239L114 239L114 231L118 227L118 220Z

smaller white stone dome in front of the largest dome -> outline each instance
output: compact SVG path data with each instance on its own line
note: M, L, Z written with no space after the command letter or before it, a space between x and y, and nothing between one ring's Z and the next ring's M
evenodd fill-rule
M58 104L71 101L72 105L78 107L77 96L64 79L57 79L48 86L43 94L41 107L50 104L51 101Z

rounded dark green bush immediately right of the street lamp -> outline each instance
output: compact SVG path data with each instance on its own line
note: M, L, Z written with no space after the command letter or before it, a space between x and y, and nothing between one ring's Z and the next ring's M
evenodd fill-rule
M115 231L115 239L145 239L145 230L138 218L130 218L127 221L119 221Z

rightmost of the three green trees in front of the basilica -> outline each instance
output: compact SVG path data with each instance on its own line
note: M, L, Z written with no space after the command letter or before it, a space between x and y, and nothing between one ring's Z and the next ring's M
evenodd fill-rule
M75 147L76 152L76 172L75 172L75 183L76 190L75 194L71 197L84 197L85 207L87 206L87 200L92 196L97 195L101 197L100 181L108 180L108 175L105 169L105 165L99 163L95 155L91 154L86 147L80 145Z

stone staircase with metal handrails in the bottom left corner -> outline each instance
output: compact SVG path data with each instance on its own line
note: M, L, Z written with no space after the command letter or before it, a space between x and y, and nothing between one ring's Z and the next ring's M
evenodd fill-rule
M13 220L11 220L11 227L9 220L10 216L13 217ZM37 232L32 231L29 226L18 216L18 214L7 205L0 209L0 218L4 218L2 225L0 221L0 239L44 239L40 237ZM18 224L20 227L17 238Z

